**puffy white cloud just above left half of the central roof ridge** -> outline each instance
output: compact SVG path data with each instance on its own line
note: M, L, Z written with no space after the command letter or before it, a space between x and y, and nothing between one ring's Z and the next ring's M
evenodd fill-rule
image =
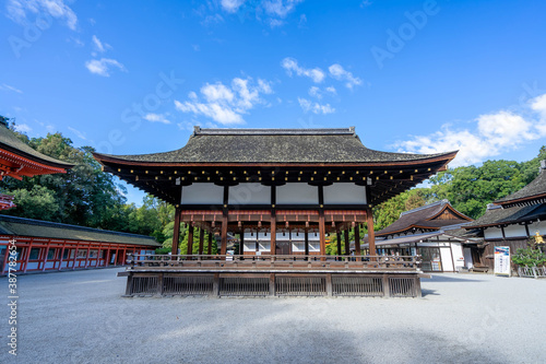
M200 90L204 101L200 101L194 92L188 94L189 101L175 101L178 110L188 114L201 115L213 119L222 125L244 124L244 114L248 114L256 105L263 104L261 94L271 94L271 84L258 79L253 82L251 78L232 80L230 86L221 82L206 83Z

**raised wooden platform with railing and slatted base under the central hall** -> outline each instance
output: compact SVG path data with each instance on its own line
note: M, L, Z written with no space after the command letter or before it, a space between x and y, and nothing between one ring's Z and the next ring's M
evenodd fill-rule
M417 257L133 256L126 296L420 297Z

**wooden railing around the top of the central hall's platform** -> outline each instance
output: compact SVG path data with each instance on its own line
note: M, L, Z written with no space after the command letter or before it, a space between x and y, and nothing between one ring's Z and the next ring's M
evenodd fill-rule
M316 256L316 255L128 255L128 270L417 270L420 256Z

